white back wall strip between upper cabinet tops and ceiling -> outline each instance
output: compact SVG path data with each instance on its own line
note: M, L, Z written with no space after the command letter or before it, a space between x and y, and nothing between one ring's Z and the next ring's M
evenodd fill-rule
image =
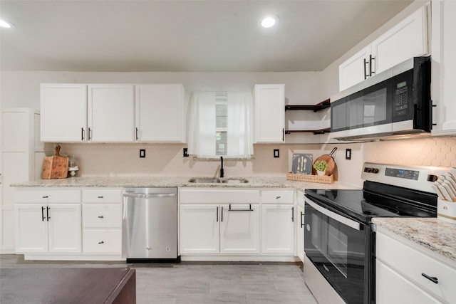
M257 83L284 83L286 103L320 102L318 72L290 73L167 73L2 71L1 108L39 109L40 83L183 83L194 90L252 90Z

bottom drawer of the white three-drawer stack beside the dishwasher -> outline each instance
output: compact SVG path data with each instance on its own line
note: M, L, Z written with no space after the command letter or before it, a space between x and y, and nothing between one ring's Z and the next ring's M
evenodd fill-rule
M122 253L122 230L84 229L84 253Z

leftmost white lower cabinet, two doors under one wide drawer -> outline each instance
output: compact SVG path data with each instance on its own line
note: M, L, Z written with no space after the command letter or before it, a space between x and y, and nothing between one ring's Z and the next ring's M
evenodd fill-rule
M78 190L16 192L16 253L80 253Z

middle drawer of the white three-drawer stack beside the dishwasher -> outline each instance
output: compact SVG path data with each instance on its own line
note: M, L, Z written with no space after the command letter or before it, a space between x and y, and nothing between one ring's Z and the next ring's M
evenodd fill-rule
M121 227L122 204L83 204L83 227Z

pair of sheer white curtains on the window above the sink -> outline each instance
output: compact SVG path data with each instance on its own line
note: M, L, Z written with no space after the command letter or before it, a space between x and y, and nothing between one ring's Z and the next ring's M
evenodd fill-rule
M217 157L216 92L195 91L188 111L188 152ZM225 92L227 96L227 157L249 158L253 148L252 92Z

